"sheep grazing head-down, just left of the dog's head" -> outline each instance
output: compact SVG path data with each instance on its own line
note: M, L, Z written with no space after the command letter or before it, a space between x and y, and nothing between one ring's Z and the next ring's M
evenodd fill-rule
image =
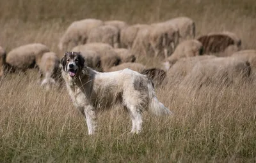
M61 79L60 59L54 52L44 53L38 65L40 73L44 76L41 86L49 90L51 85L56 85L56 81Z

